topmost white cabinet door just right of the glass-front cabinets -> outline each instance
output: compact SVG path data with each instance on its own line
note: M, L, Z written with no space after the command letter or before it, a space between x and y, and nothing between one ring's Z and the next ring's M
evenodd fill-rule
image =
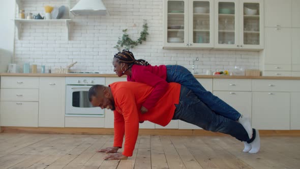
M292 1L291 0L264 0L264 26L291 27ZM295 6L298 10L299 6ZM295 12L296 13L296 12ZM266 31L265 31L266 32ZM283 43L284 44L284 43Z

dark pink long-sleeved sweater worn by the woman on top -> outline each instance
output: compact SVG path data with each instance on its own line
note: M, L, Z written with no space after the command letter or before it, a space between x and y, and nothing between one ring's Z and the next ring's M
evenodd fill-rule
M166 65L160 66L140 66L133 65L131 68L131 76L127 76L127 81L136 81L145 83L154 87L154 90L146 98L143 106L148 110L166 93L168 88L167 68Z

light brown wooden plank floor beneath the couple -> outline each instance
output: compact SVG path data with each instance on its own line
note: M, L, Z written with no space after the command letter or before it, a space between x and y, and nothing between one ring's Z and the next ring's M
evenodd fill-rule
M132 157L103 160L96 150L112 143L113 135L0 133L0 168L300 168L295 136L262 136L249 154L228 136L141 135Z

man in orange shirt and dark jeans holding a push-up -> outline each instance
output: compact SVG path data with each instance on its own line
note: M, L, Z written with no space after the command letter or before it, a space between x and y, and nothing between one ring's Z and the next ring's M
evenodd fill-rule
M168 83L167 92L146 114L140 108L153 87L138 82L115 82L109 87L95 85L88 91L93 106L111 109L114 112L114 143L99 152L114 153L105 159L127 159L132 156L138 136L139 121L150 121L166 126L172 119L183 120L205 130L229 134L244 142L244 152L257 153L260 148L258 130L253 129L249 138L245 128L236 121L217 115L188 88L178 83ZM122 148L125 135L124 152Z

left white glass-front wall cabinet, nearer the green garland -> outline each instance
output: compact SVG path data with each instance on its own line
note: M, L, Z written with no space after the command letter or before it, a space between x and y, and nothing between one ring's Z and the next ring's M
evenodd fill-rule
M163 48L212 48L213 0L164 1Z

